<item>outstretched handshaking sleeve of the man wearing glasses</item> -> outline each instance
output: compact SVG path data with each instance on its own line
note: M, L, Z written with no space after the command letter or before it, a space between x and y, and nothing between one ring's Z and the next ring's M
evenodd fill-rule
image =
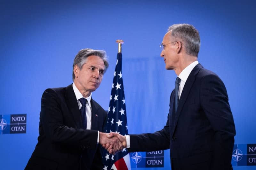
M130 135L129 152L158 151L170 148L169 114L166 125L155 133Z

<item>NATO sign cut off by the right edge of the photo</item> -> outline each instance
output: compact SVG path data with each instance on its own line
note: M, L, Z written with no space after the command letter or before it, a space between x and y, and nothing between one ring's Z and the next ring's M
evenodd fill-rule
M232 155L232 166L255 166L256 144L236 144Z

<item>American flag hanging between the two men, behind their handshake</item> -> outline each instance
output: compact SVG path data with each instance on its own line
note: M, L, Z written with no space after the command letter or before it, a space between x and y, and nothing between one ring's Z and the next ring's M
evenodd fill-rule
M122 53L117 53L116 69L108 107L108 127L106 132L117 132L121 135L128 134L124 84L122 77ZM130 155L127 149L123 149L123 151L117 153L116 155L111 155L105 150L103 154L103 163L104 170L131 169Z

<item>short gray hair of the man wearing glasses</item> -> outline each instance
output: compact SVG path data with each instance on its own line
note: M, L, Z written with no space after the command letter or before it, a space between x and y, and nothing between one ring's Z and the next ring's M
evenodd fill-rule
M168 31L172 31L172 37L176 40L183 41L185 51L188 55L196 56L200 49L200 37L199 32L193 25L189 24L174 24L168 28Z

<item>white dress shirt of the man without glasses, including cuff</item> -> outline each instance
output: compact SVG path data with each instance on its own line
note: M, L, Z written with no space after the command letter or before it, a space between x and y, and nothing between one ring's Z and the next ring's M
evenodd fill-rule
M77 104L79 106L79 110L82 107L82 104L80 103L79 99L84 98L84 96L82 95L82 93L76 88L75 83L72 84L73 86L73 90L75 92L76 95L76 100L77 100ZM91 99L92 99L92 93L90 96L85 98L87 100L86 104L85 104L85 110L86 110L86 129L92 129L92 107L91 107ZM98 138L97 138L97 144L99 143L99 139L100 139L100 132L98 131Z

